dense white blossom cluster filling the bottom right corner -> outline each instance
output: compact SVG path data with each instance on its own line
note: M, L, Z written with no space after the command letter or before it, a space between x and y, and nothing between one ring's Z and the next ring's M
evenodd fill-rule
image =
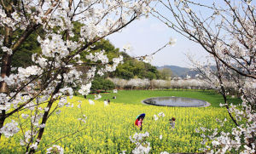
M221 104L221 106L227 106ZM245 103L242 106L246 107ZM241 153L253 153L255 152L255 143L252 142L253 136L256 132L256 114L249 111L244 112L240 109L241 106L231 105L229 111L231 114L236 115L236 121L241 122L243 118L247 119L247 123L241 124L236 128L232 128L231 132L221 131L218 133L218 128L203 128L196 129L196 133L201 133L201 137L205 138L202 144L205 144L208 140L212 143L212 150L210 153L225 153L227 151L241 151ZM227 122L226 119L221 121L216 119L217 122L223 127ZM208 135L206 135L208 134ZM244 141L243 141L244 140ZM246 145L243 145L243 142ZM250 146L248 146L250 145ZM205 150L207 151L207 149Z

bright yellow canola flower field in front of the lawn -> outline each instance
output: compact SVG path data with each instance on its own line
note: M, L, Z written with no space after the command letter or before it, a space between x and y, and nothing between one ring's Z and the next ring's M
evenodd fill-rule
M58 114L49 117L49 123L44 126L44 138L37 149L39 153L54 149L64 153L132 153L137 145L131 142L130 137L146 132L150 134L147 136L148 146L145 146L148 147L148 151L150 147L149 153L195 153L210 145L209 141L206 141L206 145L201 145L204 136L196 133L196 128L232 128L231 122L230 125L222 127L216 122L216 119L229 121L229 116L223 108L181 108L120 103L104 106L102 101L93 100L93 104L90 100L79 97L67 101L70 102L70 106L64 106L61 112L57 111ZM140 131L134 126L134 121L142 112L146 117L143 120L143 130ZM20 117L27 117L26 113ZM175 128L171 128L169 124L172 117L176 117ZM3 136L0 153L24 153L26 147L20 145L22 135L19 131L13 137Z

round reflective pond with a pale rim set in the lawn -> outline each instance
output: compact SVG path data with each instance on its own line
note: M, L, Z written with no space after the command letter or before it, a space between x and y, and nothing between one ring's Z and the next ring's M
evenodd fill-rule
M201 107L209 106L204 100L190 99L185 97L154 97L143 100L143 103L154 106L178 106L178 107Z

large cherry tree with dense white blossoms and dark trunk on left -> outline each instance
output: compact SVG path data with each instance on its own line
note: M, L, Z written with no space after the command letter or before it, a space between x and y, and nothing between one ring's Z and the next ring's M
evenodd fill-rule
M95 75L114 71L122 60L121 56L108 60L103 50L92 52L93 43L147 15L149 3L151 0L1 0L0 139L21 129L20 145L34 153L49 116L68 105L73 88L79 86L80 94L89 94ZM32 34L38 35L40 52L32 54L32 66L14 68L13 56ZM83 81L81 67L86 70ZM15 117L31 118L31 127L22 127ZM10 123L6 123L8 118Z

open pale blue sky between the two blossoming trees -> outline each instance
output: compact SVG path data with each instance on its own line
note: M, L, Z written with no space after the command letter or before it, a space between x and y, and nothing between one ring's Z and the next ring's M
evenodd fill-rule
M205 60L207 52L199 44L189 41L154 17L133 21L131 25L112 34L108 39L120 50L125 44L131 44L132 50L128 54L139 56L153 53L168 43L171 37L177 38L176 45L168 46L155 54L154 60L151 62L152 65L189 67L189 60L185 55L188 53L195 55L196 60Z

